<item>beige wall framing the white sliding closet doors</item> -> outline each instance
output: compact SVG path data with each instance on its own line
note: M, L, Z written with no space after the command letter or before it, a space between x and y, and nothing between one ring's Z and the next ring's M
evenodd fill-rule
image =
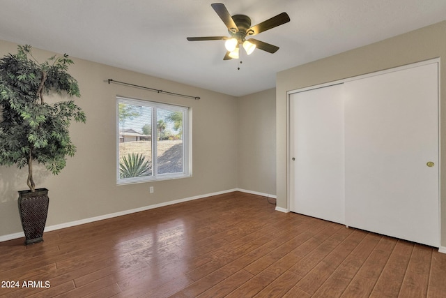
M296 49L298 50L298 49ZM286 92L302 87L341 80L386 68L411 64L440 57L440 136L446 132L446 21L418 29L378 43L334 55L277 74L276 133L277 133L277 207L287 209L287 107ZM446 145L441 144L441 156ZM446 173L446 163L440 171ZM440 181L442 246L446 246L446 174Z

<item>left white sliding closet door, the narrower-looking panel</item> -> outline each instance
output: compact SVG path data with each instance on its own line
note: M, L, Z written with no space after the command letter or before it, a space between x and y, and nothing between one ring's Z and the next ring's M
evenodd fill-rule
M344 223L343 85L290 95L290 210Z

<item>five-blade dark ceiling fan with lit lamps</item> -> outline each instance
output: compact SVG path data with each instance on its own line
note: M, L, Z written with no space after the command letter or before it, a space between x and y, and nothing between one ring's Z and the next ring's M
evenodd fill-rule
M270 19L251 27L251 19L247 15L231 16L223 3L213 3L210 4L210 6L212 6L215 13L222 19L228 28L230 36L188 37L187 40L226 40L224 46L226 47L227 52L224 55L224 60L238 59L240 57L240 46L245 49L248 55L252 54L256 47L268 53L275 53L279 50L279 47L275 45L270 45L269 43L264 43L263 41L254 38L246 38L289 22L290 17L287 13L280 13L275 17L271 17Z

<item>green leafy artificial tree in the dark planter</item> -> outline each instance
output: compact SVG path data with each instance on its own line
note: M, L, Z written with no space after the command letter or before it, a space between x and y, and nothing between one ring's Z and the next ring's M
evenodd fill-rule
M68 73L70 64L67 54L39 63L30 45L19 45L17 54L0 59L0 165L28 167L27 193L38 191L33 164L59 174L66 157L75 154L68 128L73 119L85 122L84 112L71 99L45 102L51 94L80 97L77 80Z

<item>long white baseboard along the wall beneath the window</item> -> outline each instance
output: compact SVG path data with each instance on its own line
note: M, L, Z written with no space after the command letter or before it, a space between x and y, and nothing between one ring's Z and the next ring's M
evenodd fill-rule
M123 216L123 215L132 214L132 213L136 213L136 212L140 212L140 211L146 211L146 210L149 210L149 209L155 209L155 208L159 208L159 207L164 207L164 206L168 206L168 205L171 205L171 204L178 204L180 202L187 202L187 201L198 200L198 199L202 199L202 198L208 198L208 197L212 197L213 195L222 195L224 193L232 193L234 191L238 191L238 188L229 189L227 191L219 191L217 193L208 193L206 195L196 195L196 196L190 197L190 198L184 198L184 199L164 202L164 203L160 203L160 204L153 204L153 205L140 207L140 208L136 208L136 209L130 209L130 210L125 210L125 211L115 212L115 213L112 213L112 214L105 214L105 215L101 215L101 216L85 218L85 219L81 219L79 221L70 221L69 223L60 223L59 225L49 225L49 226L45 227L45 232L54 231L54 230L60 230L60 229L63 229L63 228L70 228L70 227L73 227L75 225L83 225L84 223L93 223L94 221L102 221L102 220L108 219L108 218L114 218L114 217L117 217L117 216ZM17 239L17 238L22 238L22 237L25 237L24 232L17 232L17 233L13 233L13 234L6 234L6 235L3 235L3 236L0 236L0 242L12 240L12 239Z

